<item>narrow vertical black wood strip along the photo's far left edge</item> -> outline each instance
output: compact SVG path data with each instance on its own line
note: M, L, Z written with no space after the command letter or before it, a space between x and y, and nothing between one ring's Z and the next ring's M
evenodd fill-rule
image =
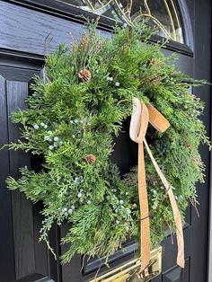
M6 108L6 84L0 75L0 146L8 143L7 108ZM13 281L13 223L11 209L11 193L5 187L5 179L9 175L9 154L6 148L0 150L0 273L3 281Z

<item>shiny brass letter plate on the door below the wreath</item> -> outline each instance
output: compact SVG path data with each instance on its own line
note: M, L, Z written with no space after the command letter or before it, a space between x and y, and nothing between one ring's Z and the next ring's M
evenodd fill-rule
M130 260L103 274L99 278L94 278L90 282L146 282L155 278L162 271L162 247L154 249L150 253L150 263L148 267L140 271L140 259Z

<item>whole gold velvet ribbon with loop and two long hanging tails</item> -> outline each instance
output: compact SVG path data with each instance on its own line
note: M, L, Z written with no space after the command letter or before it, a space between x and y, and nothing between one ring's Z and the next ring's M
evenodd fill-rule
M140 203L140 228L141 228L141 270L146 269L150 260L150 226L149 211L146 189L146 170L144 157L144 144L146 151L150 156L155 170L158 173L166 192L170 198L174 223L176 225L176 235L178 244L177 264L184 268L184 239L181 223L181 214L172 192L172 186L166 180L162 170L155 161L155 158L146 143L146 130L148 123L159 132L165 131L170 127L170 123L163 115L156 110L151 104L145 104L138 98L133 98L133 112L130 121L129 136L138 144L138 197Z

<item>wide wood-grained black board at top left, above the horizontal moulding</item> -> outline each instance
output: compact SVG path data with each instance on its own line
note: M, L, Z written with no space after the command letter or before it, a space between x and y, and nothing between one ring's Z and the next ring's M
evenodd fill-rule
M8 11L10 11L8 13ZM69 22L46 13L22 8L0 1L0 45L1 48L44 55L58 44L69 44L72 35L77 38L84 28L77 22Z

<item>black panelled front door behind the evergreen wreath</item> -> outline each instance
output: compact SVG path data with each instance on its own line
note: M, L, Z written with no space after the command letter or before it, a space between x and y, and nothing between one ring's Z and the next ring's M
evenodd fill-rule
M68 32L74 37L83 31L80 20L75 17L77 8L64 4L68 1L0 1L0 144L8 144L19 136L18 128L10 122L10 112L23 108L29 94L31 76L40 73L43 65L45 45L49 50L58 43L69 42ZM162 2L158 0L157 2ZM167 1L169 2L169 1ZM172 1L170 1L172 2ZM195 78L210 79L210 0L175 1L180 11L184 43L171 42L164 48L165 54L171 51L179 54L178 67ZM102 20L102 29L107 20ZM109 31L104 31L109 32ZM208 135L210 128L210 88L191 89L206 101L205 120ZM125 146L131 155L128 138L122 135L117 141ZM123 163L118 150L113 155L122 172L128 172L133 163ZM154 282L206 282L208 249L208 172L209 154L201 148L207 166L206 182L198 185L199 216L191 207L187 210L185 236L186 267L176 266L176 244L172 244L170 234L163 242L163 273ZM128 158L130 159L130 158ZM19 192L5 188L8 175L18 177L18 169L24 164L34 167L39 160L22 152L0 151L0 281L54 281L80 282L93 278L100 269L102 260L91 260L83 267L80 256L65 266L60 266L49 254L45 244L39 241L41 223L40 205L32 206ZM132 162L136 162L136 159ZM66 226L55 226L49 234L51 245L59 256L64 250L59 239L66 234ZM174 239L175 241L175 239ZM110 268L134 257L137 242L128 242L126 252L118 251L110 258ZM105 267L100 273L107 271Z

